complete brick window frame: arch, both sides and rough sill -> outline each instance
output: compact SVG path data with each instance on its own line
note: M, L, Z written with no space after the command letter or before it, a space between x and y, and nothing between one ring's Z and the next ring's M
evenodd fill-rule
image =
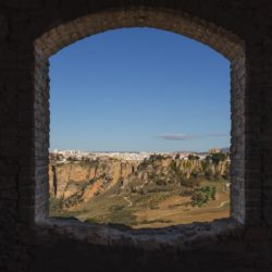
M49 208L49 182L48 182L48 148L49 148L49 62L48 59L65 46L85 37L99 34L110 29L122 27L153 27L170 30L194 40L208 45L231 61L231 218L218 220L213 223L190 224L164 227L162 230L135 231L116 230L107 225L94 225L78 223L64 219L52 219L48 217ZM197 228L201 233L211 235L215 230L218 233L227 232L237 226L257 225L260 222L258 209L255 207L256 198L260 189L255 189L255 198L249 198L249 187L254 180L248 173L248 154L246 152L246 58L244 41L231 32L191 16L181 11L157 9L157 8L131 8L126 10L108 10L79 17L69 23L59 25L37 38L35 48L34 67L34 129L33 135L33 172L29 175L32 193L30 203L23 206L22 214L27 214L29 222L36 226L53 227L57 232L75 234L78 238L88 237L91 243L109 244L127 237L133 244L140 244L152 237L150 233L161 233L159 243L173 243L184 239L184 233ZM250 172L250 171L249 171ZM27 188L26 188L27 189ZM252 190L251 190L252 191ZM250 194L249 194L250 195ZM247 196L247 197L246 197ZM257 196L257 197L256 197ZM250 221L248 220L250 219ZM207 226L209 226L207 228ZM177 230L174 232L173 230ZM181 230L183 235L181 236ZM187 230L187 231L186 231ZM165 234L171 235L165 236ZM176 236L177 235L177 236ZM102 237L102 238L101 238ZM137 238L135 238L137 237Z

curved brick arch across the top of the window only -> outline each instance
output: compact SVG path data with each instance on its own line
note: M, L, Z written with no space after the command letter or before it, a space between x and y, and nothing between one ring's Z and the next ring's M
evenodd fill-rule
M228 60L244 54L244 42L236 35L196 16L162 8L112 9L61 24L36 39L35 48L49 58L63 47L85 37L122 27L154 27L170 30L208 45Z

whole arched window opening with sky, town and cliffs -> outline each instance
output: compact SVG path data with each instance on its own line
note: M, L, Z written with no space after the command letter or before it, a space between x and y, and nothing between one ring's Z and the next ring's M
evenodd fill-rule
M230 62L154 28L50 60L50 217L135 228L230 217Z

